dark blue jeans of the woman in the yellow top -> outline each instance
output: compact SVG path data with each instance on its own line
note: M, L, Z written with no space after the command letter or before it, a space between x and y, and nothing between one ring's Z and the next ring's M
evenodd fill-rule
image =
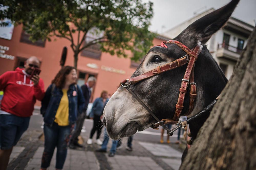
M45 149L42 155L41 168L50 166L51 158L55 147L57 146L56 166L57 169L62 169L67 156L67 147L74 125L59 126L53 123L52 127L44 125Z

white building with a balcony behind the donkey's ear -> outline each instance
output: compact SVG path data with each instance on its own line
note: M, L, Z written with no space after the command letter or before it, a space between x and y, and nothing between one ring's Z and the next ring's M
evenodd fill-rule
M213 8L177 25L176 27L164 32L167 37L176 37L185 28L197 19L214 11ZM225 27L216 32L206 43L211 55L219 64L227 79L233 73L233 68L240 56L242 49L247 44L247 39L254 26L236 18L230 17Z

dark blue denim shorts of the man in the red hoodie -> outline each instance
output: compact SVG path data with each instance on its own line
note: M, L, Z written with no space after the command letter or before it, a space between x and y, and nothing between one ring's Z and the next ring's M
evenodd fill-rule
M30 117L19 117L13 114L0 114L0 147L11 149L17 144L27 130Z

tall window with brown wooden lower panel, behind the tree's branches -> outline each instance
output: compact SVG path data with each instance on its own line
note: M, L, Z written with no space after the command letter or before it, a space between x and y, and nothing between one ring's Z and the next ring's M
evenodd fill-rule
M99 31L97 28L91 29L90 31L88 31L88 33L86 35L86 38L84 40L84 44L90 43L93 40L102 37L103 34L104 34L104 32ZM100 45L99 44L93 44L93 45L90 45L87 48L84 48L82 50L81 56L90 57L90 58L100 60L100 57L101 57Z

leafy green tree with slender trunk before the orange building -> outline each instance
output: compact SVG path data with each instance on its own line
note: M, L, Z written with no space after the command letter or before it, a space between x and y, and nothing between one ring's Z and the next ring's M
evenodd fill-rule
M71 42L74 67L78 54L99 44L103 52L133 60L143 57L154 34L148 31L153 16L152 3L141 0L13 0L0 3L1 19L8 18L30 34L30 40L57 36ZM4 26L5 23L2 23ZM88 33L97 38L87 38ZM85 41L89 40L89 41Z

